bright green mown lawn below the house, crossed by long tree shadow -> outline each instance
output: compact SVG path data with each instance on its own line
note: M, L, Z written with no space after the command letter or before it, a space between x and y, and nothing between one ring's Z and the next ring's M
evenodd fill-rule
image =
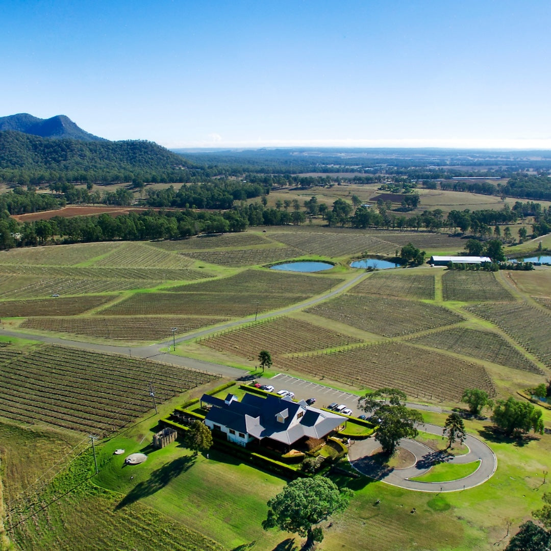
M112 456L117 447L125 453ZM141 448L148 460L123 466L128 453ZM211 450L208 455L195 456L180 442L153 450L133 439L117 438L102 450L105 464L96 483L120 493L117 507L141 501L229 549L259 540L260 548L272 549L286 539L289 534L264 532L261 526L267 500L286 481L224 453Z

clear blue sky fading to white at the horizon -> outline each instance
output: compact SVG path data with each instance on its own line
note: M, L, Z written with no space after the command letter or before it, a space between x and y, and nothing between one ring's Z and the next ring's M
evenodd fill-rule
M0 116L167 147L551 148L549 0L0 8Z

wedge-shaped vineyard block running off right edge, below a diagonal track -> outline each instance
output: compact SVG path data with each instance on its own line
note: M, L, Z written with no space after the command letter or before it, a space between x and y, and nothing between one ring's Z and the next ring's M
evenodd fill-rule
M487 302L465 309L498 326L551 368L551 312L525 302Z

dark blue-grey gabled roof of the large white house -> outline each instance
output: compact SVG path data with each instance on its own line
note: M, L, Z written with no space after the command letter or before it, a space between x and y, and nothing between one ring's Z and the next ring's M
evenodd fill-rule
M201 401L213 406L206 420L249 433L258 440L271 438L289 445L303 436L322 438L344 422L341 415L312 408L303 401L293 402L288 397L245 393L241 402L228 403L208 395L203 395ZM297 422L299 412L302 417Z

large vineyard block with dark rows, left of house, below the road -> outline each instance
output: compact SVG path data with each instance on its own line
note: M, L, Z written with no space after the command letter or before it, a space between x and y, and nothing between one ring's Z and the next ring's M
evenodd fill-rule
M45 345L0 364L0 415L107 434L158 402L215 379L151 360Z

